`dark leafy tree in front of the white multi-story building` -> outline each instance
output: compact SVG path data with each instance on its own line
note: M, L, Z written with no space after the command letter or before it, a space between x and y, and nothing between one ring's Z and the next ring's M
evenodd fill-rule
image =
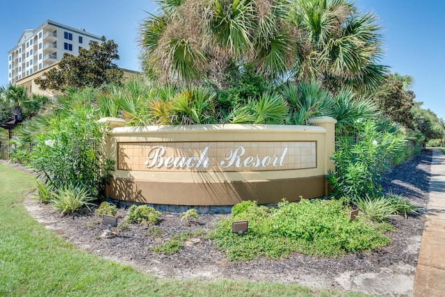
M119 60L118 45L113 40L90 42L89 49L79 49L79 55L65 53L58 67L44 77L35 79L42 90L61 91L97 88L107 83L120 83L124 75L113 61Z

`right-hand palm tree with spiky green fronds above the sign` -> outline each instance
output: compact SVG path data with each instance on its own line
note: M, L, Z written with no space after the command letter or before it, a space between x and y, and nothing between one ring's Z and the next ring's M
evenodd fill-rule
M360 14L347 0L295 0L291 19L302 35L297 80L321 79L331 90L376 86L387 67L379 65L382 39L377 17Z

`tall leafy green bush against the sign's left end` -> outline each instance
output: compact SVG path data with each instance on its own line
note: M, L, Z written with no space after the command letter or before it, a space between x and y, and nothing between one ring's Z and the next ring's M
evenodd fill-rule
M81 185L98 197L113 168L99 149L106 128L96 122L91 109L54 118L51 127L36 136L29 164L48 186Z

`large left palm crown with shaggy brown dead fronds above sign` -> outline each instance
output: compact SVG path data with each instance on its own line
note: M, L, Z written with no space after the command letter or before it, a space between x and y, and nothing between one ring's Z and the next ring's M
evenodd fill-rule
M290 1L161 1L140 26L143 66L161 81L224 85L230 66L254 65L270 79L295 61Z

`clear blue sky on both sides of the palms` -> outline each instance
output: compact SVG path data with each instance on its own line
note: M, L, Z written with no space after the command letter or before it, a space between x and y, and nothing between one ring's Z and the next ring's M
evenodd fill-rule
M414 77L416 101L445 118L445 1L357 0L357 7L379 16L385 40L383 65L392 72ZM45 19L105 35L119 45L125 69L138 70L137 29L154 1L77 0L5 1L0 10L0 85L8 83L8 51L24 29L35 29Z

